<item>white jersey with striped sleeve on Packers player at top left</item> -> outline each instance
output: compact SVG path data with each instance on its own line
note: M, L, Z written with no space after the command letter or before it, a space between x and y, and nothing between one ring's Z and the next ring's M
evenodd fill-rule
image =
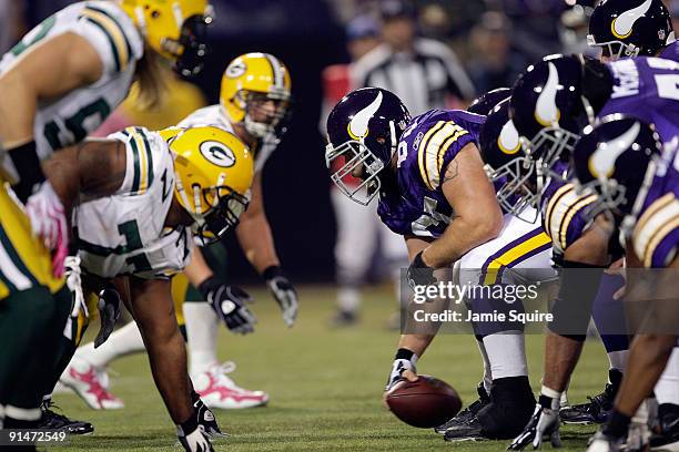
M128 14L111 1L82 1L49 17L0 60L0 74L31 50L63 33L84 38L103 63L101 78L68 94L38 105L34 137L40 158L82 141L128 96L144 43ZM54 68L59 71L59 68ZM6 160L9 162L9 160ZM13 167L7 168L16 176Z

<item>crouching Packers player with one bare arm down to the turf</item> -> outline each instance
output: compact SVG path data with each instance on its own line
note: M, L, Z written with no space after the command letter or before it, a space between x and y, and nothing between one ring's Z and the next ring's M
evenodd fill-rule
M221 239L237 224L253 167L245 144L216 127L161 133L129 127L109 140L64 150L48 164L54 191L68 209L74 207L77 258L84 277L128 276L123 300L189 451L212 450L205 434L220 431L189 379L170 278L188 264L194 236ZM229 301L224 316L247 325L251 314L239 297Z

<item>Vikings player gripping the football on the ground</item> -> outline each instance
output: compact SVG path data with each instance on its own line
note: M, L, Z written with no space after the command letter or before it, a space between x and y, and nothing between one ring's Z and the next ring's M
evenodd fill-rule
M540 226L503 219L476 145L484 120L468 112L434 110L411 121L398 97L379 89L349 93L328 117L326 163L330 167L344 158L331 176L333 182L362 204L379 195L382 220L406 239L414 284L428 284L435 268L457 260L468 270L466 278L476 284L491 277L484 271L487 267L498 270L495 276L521 264L548 268L549 256L544 251L549 239ZM348 174L361 177L362 185L344 184ZM538 255L544 266L535 260L527 264ZM473 310L488 308L487 300L470 304ZM439 431L450 441L508 438L520 431L520 422L533 410L520 328L507 322L475 332L485 361L483 393L485 399L490 394L491 402L476 412L477 404L464 420L442 427ZM386 390L404 378L417 378L415 363L433 337L402 336Z

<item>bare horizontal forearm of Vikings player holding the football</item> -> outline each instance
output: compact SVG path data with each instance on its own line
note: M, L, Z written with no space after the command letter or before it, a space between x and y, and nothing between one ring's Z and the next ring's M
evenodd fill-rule
M432 242L422 255L424 263L432 268L443 268L458 260L468 250L497 237L501 217L486 220L482 218L455 218L443 236Z

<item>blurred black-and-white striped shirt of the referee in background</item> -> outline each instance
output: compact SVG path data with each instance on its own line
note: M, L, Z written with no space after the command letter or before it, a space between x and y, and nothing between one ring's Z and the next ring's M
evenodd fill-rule
M462 63L445 44L418 38L413 53L396 53L381 44L352 66L354 88L383 88L418 115L446 107L446 97L474 99L474 86Z

